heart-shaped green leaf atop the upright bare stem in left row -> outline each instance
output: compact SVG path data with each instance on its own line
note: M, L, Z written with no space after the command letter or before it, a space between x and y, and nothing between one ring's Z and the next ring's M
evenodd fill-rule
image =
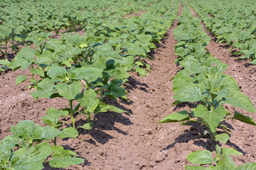
M60 83L57 84L55 87L58 90L60 96L63 96L68 100L72 100L80 93L82 85L80 81L73 81L73 83L70 85Z

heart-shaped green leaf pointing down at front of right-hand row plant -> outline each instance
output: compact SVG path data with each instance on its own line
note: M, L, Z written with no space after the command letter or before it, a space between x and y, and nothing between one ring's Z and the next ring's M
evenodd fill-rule
M218 106L214 111L208 111L203 105L197 106L194 115L208 123L211 132L215 132L221 120L225 117L225 108Z

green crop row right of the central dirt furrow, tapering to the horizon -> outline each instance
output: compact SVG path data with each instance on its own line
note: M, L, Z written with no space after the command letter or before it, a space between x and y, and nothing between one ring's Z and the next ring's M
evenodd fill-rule
M206 126L207 130L203 133L210 137L210 150L215 149L216 157L213 158L209 150L192 152L187 155L187 159L193 164L201 166L185 166L187 170L255 169L256 163L237 167L230 157L242 153L232 148L223 147L221 149L219 145L215 145L216 142L226 143L229 140L228 133L217 133L217 128L231 132L227 126L222 124L225 120L236 119L243 123L256 125L249 116L242 115L238 111L230 113L225 110L223 104L229 103L251 113L255 113L256 110L250 99L240 92L235 79L223 73L228 65L210 55L206 49L210 38L202 31L201 20L192 16L185 1L181 1L181 3L183 12L182 16L178 18L179 23L174 29L174 36L178 41L175 49L176 55L178 55L176 62L183 69L174 77L173 91L176 93L174 95L176 101L173 104L191 102L196 103L196 106L189 112L171 113L159 123L181 122L181 125L200 123Z

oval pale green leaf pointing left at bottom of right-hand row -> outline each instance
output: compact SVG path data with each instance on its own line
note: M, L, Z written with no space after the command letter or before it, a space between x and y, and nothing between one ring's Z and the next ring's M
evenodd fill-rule
M211 164L213 159L212 153L208 150L192 152L186 158L193 164Z

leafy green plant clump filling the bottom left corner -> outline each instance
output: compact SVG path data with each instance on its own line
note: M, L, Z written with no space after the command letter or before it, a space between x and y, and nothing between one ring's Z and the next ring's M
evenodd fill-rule
M76 157L75 152L57 145L50 146L49 141L62 134L51 126L41 127L30 120L23 120L11 126L11 132L14 135L0 142L1 169L43 169L47 162L52 167L62 168L85 161ZM46 161L50 155L52 158Z

